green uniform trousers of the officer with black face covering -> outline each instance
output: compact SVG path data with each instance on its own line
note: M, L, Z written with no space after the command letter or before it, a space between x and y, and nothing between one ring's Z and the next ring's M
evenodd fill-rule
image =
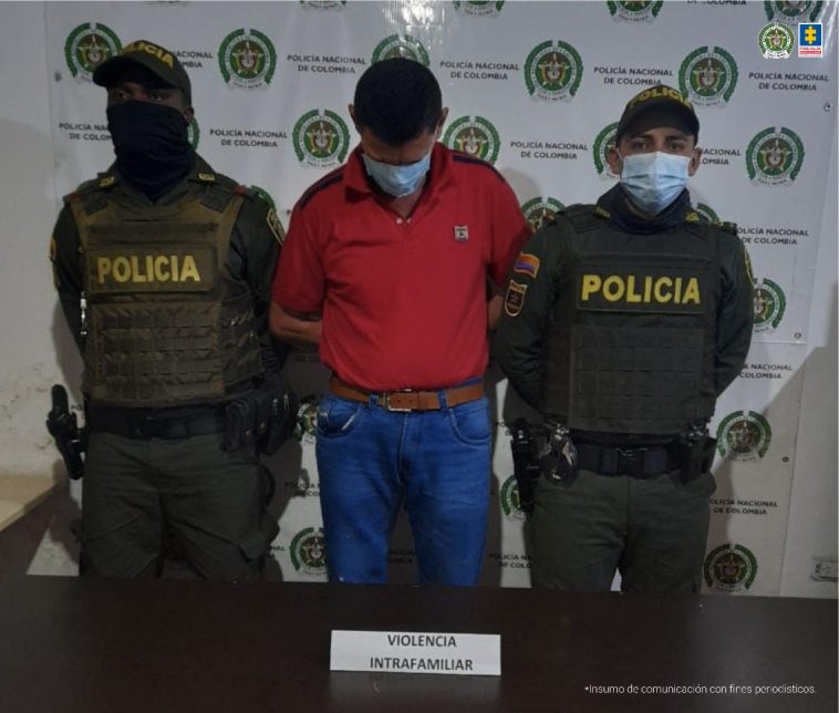
M277 536L266 513L270 473L251 445L221 434L126 438L92 433L82 479L82 575L154 577L164 536L195 572L241 581L261 575Z

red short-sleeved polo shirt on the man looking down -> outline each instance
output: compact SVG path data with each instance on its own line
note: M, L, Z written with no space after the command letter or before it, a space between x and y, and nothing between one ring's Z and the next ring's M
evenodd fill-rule
M412 216L379 203L361 147L294 206L272 288L322 313L320 358L371 391L436 389L483 375L487 276L501 286L529 229L489 164L435 144Z

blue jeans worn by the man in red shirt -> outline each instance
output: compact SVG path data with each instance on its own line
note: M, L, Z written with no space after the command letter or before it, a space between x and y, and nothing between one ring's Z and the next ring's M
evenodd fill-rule
M489 506L489 406L398 413L327 394L315 455L330 581L384 582L404 502L421 583L474 585Z

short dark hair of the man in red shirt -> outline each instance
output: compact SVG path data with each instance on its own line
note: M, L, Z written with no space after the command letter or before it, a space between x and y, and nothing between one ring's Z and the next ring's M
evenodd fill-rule
M439 84L419 62L393 58L361 75L353 100L359 131L369 128L389 146L402 146L434 131L443 111Z

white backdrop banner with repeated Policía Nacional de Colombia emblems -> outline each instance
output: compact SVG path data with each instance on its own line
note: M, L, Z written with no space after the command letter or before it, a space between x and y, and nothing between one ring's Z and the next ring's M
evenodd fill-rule
M659 82L681 87L702 124L696 208L738 224L756 278L755 339L723 395L707 589L777 595L800 407L800 368L837 131L833 2L96 2L46 3L55 193L113 159L105 93L92 70L147 39L173 50L193 82L191 141L220 173L262 188L280 216L358 142L348 113L371 63L402 54L443 87L443 141L507 177L536 227L592 203L615 176L604 156L626 101ZM816 297L824 299L824 296ZM445 354L441 354L444 359ZM313 351L289 360L299 438L270 462L289 580L325 579L313 414L327 373ZM529 586L505 424L528 414L490 366L497 438L483 581ZM392 579L415 579L404 521Z

